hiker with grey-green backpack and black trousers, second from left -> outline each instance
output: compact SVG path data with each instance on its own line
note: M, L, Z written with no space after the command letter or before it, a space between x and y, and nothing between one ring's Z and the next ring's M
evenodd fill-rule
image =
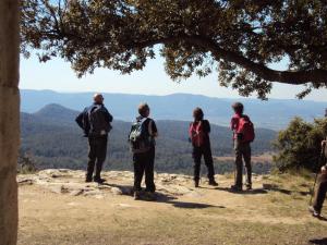
M150 109L147 103L138 106L138 117L132 124L129 142L133 152L134 163L134 199L145 198L154 200L156 185L154 181L154 167L156 156L156 142L158 130L153 119L148 118ZM142 179L145 174L145 193L142 195Z

